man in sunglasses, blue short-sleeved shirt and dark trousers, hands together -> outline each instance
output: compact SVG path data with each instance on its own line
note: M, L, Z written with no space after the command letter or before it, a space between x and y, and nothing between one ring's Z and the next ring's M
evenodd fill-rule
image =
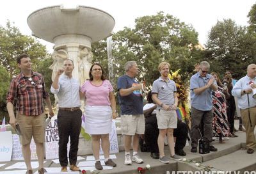
M204 124L204 138L210 142L209 150L217 151L212 146L212 90L218 86L212 75L208 74L210 65L207 61L200 63L200 70L190 79L191 95L191 152L197 152L198 131L201 122Z

